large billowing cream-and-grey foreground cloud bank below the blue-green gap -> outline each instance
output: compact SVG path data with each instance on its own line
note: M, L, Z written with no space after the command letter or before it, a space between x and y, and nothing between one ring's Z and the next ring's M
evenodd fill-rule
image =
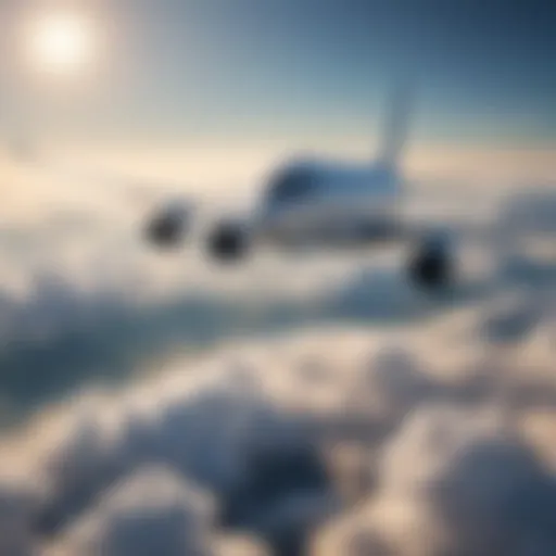
M254 551L264 547L251 538L277 554L307 554L316 535L316 555L393 556L446 546L486 555L511 533L507 554L529 554L516 552L527 543L548 554L554 476L520 417L538 410L538 399L514 413L481 381L481 395L469 394L467 354L454 377L428 367L442 350L475 350L469 338L454 324L409 330L396 341L344 330L223 349L124 392L85 397L45 429L50 437L29 431L22 457L36 460L40 488L10 528L70 554L78 539L79 554L116 542L114 554L127 554L150 527L168 554L187 553L172 531L189 519L202 541L188 539L211 555L237 549L238 533Z

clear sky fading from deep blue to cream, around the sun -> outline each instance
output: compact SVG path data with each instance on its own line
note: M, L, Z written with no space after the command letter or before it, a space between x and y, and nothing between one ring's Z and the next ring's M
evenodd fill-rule
M393 84L417 140L556 142L556 7L453 0L1 0L9 132L155 143L376 132ZM49 79L23 61L37 10L92 22L94 66Z

